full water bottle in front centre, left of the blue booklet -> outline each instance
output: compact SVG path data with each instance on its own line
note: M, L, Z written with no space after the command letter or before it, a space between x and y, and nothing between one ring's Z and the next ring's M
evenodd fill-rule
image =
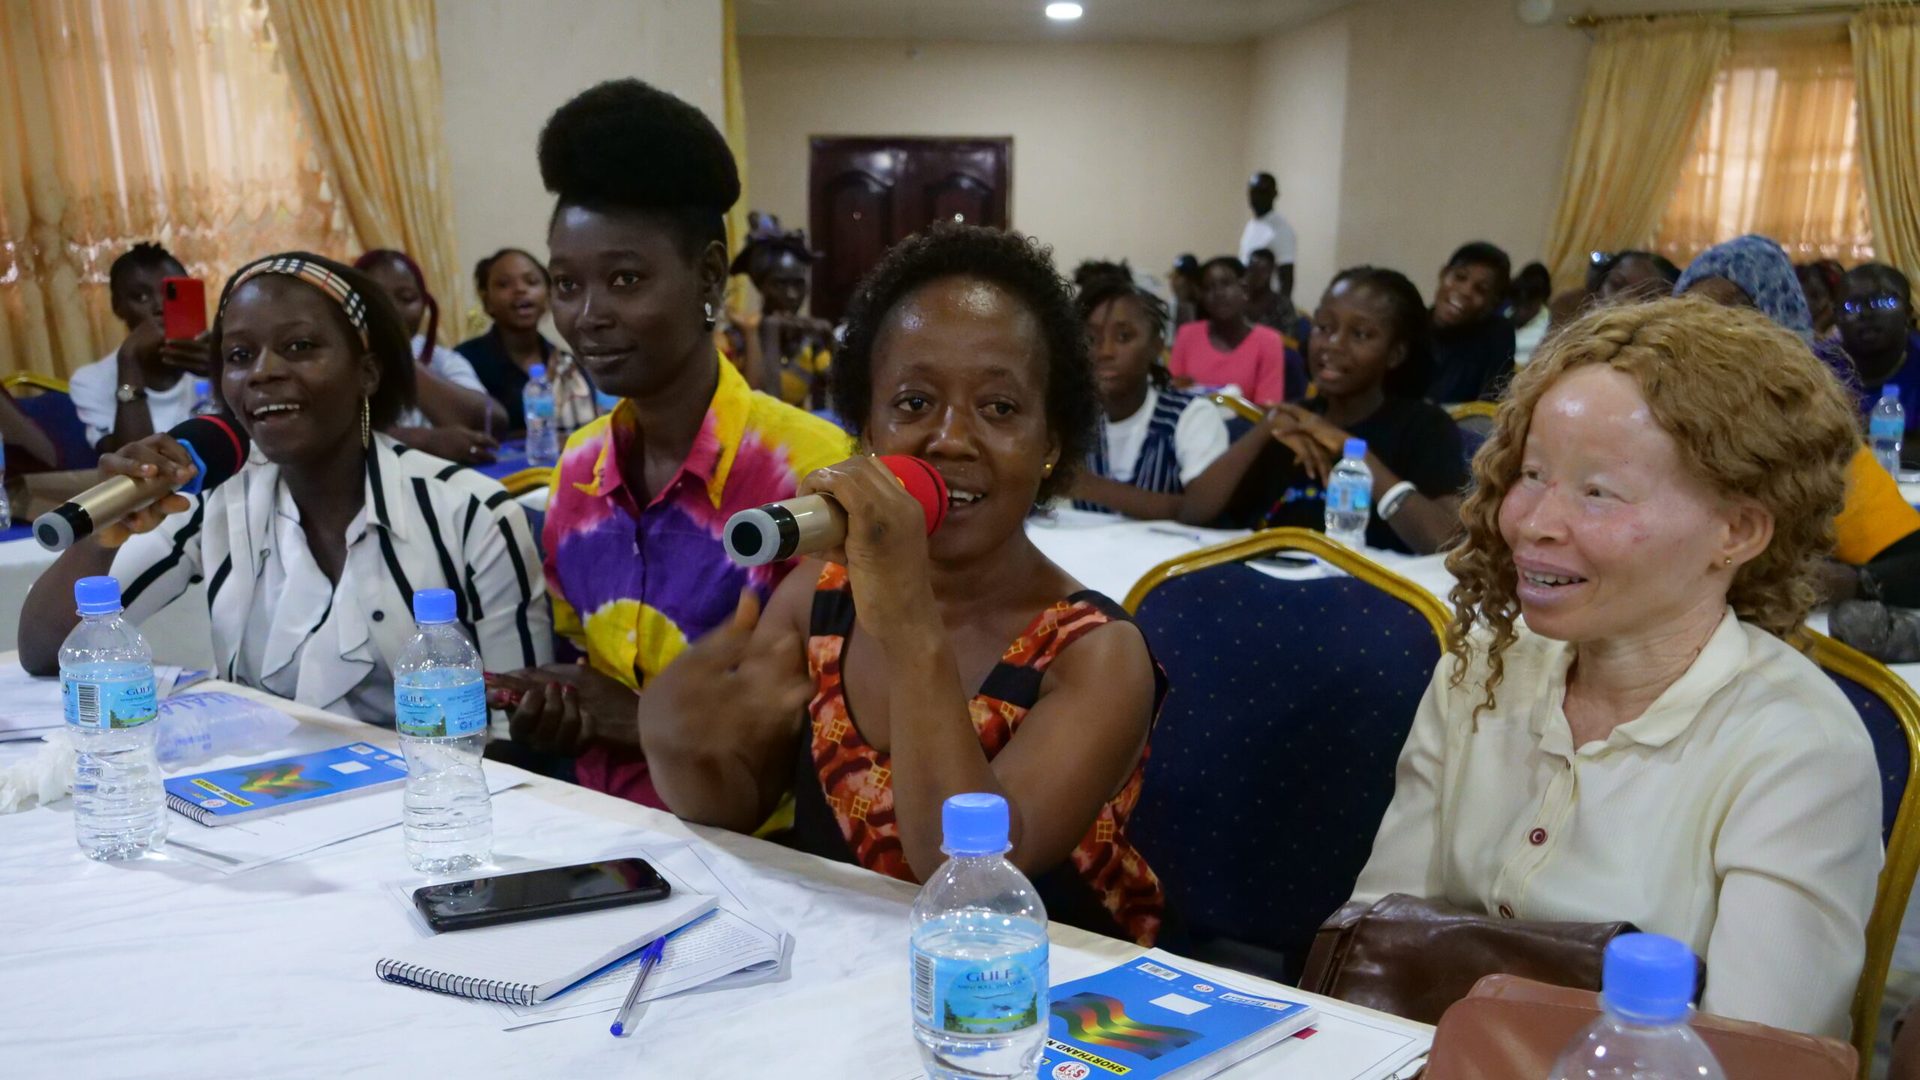
M948 859L912 913L912 1007L933 1080L1033 1076L1046 1043L1046 909L1006 853L1000 796L941 811Z

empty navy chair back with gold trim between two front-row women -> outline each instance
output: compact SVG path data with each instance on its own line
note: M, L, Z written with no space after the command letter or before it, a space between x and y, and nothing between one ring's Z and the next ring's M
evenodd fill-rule
M1242 565L1277 550L1352 577ZM1165 563L1127 607L1171 684L1135 840L1198 955L1290 980L1373 851L1446 609L1302 528Z

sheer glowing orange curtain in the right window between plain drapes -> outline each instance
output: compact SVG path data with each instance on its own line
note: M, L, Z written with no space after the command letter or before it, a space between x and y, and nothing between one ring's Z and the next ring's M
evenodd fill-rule
M1843 27L1734 35L1655 250L1688 265L1728 236L1761 233L1793 261L1870 259L1857 136Z

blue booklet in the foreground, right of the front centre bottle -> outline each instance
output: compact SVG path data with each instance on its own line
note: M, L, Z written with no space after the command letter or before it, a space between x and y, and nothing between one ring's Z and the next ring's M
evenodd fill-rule
M1198 1080L1238 1065L1313 1022L1300 1001L1260 997L1146 953L1054 986L1043 1080Z

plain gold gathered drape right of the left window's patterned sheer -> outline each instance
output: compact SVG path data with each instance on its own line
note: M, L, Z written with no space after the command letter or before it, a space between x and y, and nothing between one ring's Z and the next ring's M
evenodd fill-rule
M294 92L369 248L420 263L440 334L465 327L434 0L267 0ZM559 17L559 15L557 15Z

